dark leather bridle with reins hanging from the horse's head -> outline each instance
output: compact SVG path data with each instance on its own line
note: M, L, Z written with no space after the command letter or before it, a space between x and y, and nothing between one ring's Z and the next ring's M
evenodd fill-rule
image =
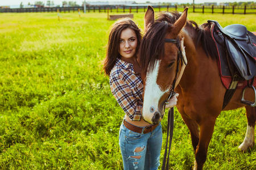
M164 110L166 108L166 104L168 104L168 101L171 99L171 97L175 95L174 88L175 88L175 84L176 84L176 80L177 80L177 73L179 72L180 59L181 59L181 62L184 63L184 65L187 65L187 62L185 62L184 56L181 54L179 38L177 37L177 39L164 39L164 42L171 42L171 43L176 44L177 48L178 48L178 54L177 54L177 67L176 67L175 78L174 78L174 82L172 82L171 92L170 92L168 98L164 101L163 112L161 114L162 118L164 115ZM168 151L168 158L167 158L167 162L166 162L169 132L170 132L169 151ZM169 157L170 157L173 133L174 133L174 108L172 107L168 111L167 140L166 140L166 149L164 151L162 170L169 169Z

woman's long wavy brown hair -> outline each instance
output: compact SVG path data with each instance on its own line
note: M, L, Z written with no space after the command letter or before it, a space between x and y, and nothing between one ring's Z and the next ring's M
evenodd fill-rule
M135 32L137 36L136 52L138 52L139 45L141 44L142 40L141 29L139 29L139 27L130 18L123 18L115 22L109 33L109 42L106 50L106 58L104 59L103 69L105 71L105 74L108 76L110 75L110 72L115 65L116 59L120 56L119 39L121 36L121 32L126 28L131 28Z

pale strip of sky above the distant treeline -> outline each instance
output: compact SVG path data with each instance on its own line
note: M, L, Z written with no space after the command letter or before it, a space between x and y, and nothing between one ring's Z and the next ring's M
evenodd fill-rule
M19 5L21 2L23 5L27 5L28 2L34 4L35 1L42 1L46 4L47 0L0 0L0 6L11 6L11 5ZM83 0L50 0L53 1L55 5L61 5L63 1L76 1L78 5L82 4ZM122 1L122 0L86 0L88 2L106 2L106 1ZM172 2L172 3L192 3L193 0L125 0L125 1L135 1L137 3L143 3L146 1L158 3L158 2ZM254 0L195 0L195 3L204 3L204 2L247 2L247 1L254 1Z

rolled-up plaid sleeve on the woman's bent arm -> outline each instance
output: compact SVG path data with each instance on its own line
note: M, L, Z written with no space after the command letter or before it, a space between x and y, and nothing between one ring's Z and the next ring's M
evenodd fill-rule
M142 102L133 96L125 80L119 76L110 77L110 89L118 104L133 121L141 120Z

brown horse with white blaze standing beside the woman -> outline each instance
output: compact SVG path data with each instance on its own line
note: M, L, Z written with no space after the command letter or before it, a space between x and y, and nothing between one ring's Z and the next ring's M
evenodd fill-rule
M205 23L198 27L195 22L187 21L187 10L185 8L182 15L166 12L155 20L153 8L147 9L144 16L145 35L139 50L144 83L142 115L151 124L161 120L164 102L177 77L177 109L191 134L195 150L194 169L203 169L226 89L220 79L217 58L212 52L214 44L210 37L210 25ZM179 48L183 57L187 57L187 66L184 72L179 69L176 74L177 66L184 66L184 61L178 63ZM250 91L246 91L245 96L247 100L254 100ZM254 147L256 108L242 104L241 97L242 90L236 90L224 110L246 108L246 136L238 147L246 151Z

